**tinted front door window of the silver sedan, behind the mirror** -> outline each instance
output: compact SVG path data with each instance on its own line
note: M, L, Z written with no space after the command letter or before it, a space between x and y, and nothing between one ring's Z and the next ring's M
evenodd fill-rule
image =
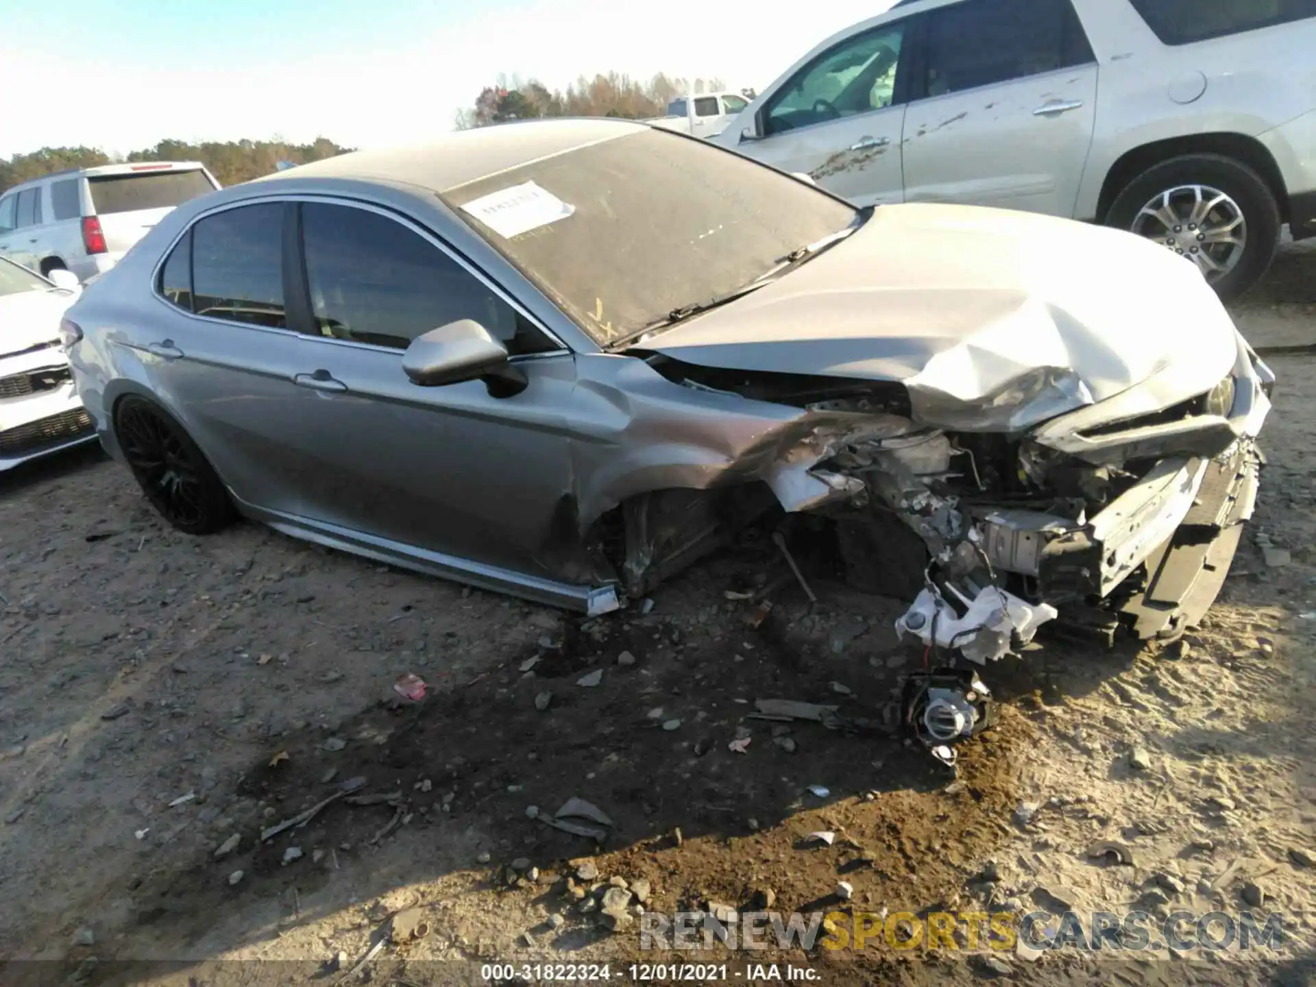
M430 329L474 318L513 357L558 349L492 288L395 220L305 203L301 234L321 336L404 350Z

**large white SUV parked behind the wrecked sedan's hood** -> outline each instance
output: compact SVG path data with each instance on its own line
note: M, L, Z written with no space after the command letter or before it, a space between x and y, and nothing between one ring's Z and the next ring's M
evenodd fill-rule
M1316 0L901 0L713 141L859 205L1120 226L1237 295L1316 237Z

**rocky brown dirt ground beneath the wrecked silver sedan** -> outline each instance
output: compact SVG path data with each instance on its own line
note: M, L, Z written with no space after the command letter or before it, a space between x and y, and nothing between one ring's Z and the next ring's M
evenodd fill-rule
M1257 346L1316 342L1316 250L1286 250L1234 313ZM898 601L816 567L816 605L787 580L754 626L755 605L728 599L786 572L763 537L663 587L646 615L584 621L253 524L179 534L95 450L3 476L0 982L476 983L492 962L644 979L630 962L675 958L742 982L763 979L753 959L826 984L1305 983L1312 357L1267 357L1261 503L1204 626L1171 649L1044 636L984 672L1000 722L955 771L891 729L919 661L895 641ZM399 700L405 672L426 699ZM857 728L746 719L767 697L837 705ZM615 824L601 848L544 822L571 796ZM811 844L816 830L834 842ZM1132 866L1091 857L1099 840ZM586 862L599 876L582 905L563 879ZM592 884L612 876L649 882L658 912L767 891L772 911L848 915L1255 905L1284 934L1249 954L988 959L879 936L682 955L641 950L634 924L601 928ZM380 938L413 905L429 934Z

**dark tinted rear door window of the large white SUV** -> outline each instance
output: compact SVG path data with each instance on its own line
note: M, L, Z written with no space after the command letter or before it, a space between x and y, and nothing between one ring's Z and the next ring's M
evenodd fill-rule
M967 0L928 13L919 95L942 96L1091 61L1070 0Z

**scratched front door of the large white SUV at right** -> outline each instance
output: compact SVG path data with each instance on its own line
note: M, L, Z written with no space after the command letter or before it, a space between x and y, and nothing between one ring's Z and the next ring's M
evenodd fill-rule
M765 101L763 137L737 150L857 205L901 201L909 24L851 34L805 64Z

